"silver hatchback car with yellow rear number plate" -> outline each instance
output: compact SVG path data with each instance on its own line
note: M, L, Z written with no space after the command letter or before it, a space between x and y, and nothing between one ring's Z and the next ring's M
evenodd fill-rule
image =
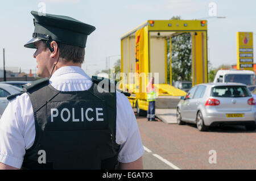
M255 130L255 100L242 83L203 83L192 87L177 104L177 123L194 123L199 131L222 124Z

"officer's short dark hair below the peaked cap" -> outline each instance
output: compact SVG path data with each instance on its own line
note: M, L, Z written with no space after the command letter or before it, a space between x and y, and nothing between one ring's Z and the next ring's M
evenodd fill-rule
M46 40L42 40L46 46ZM73 45L57 43L60 51L60 58L64 58L67 62L73 61L74 63L83 63L85 49ZM46 48L48 48L46 46Z

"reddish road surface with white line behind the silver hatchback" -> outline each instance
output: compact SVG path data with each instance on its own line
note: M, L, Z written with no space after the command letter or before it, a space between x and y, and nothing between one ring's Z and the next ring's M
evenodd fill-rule
M214 127L166 124L137 116L144 169L256 169L256 131L242 126Z

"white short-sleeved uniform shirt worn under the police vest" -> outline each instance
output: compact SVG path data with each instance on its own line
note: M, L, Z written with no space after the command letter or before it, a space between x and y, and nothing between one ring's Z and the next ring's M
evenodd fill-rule
M78 66L65 66L55 71L49 83L60 91L82 91L92 86L92 79ZM0 162L20 169L26 150L31 148L35 141L34 121L27 93L11 100L0 120ZM133 162L144 153L133 109L126 96L120 92L117 92L115 142L121 145L119 162Z

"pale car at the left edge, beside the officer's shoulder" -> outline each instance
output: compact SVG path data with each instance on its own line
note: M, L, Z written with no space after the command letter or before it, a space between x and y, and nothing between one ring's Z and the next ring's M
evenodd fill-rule
M2 116L3 111L5 111L5 108L9 103L7 96L19 93L20 91L22 91L22 89L19 87L9 85L7 83L0 83L0 117Z

